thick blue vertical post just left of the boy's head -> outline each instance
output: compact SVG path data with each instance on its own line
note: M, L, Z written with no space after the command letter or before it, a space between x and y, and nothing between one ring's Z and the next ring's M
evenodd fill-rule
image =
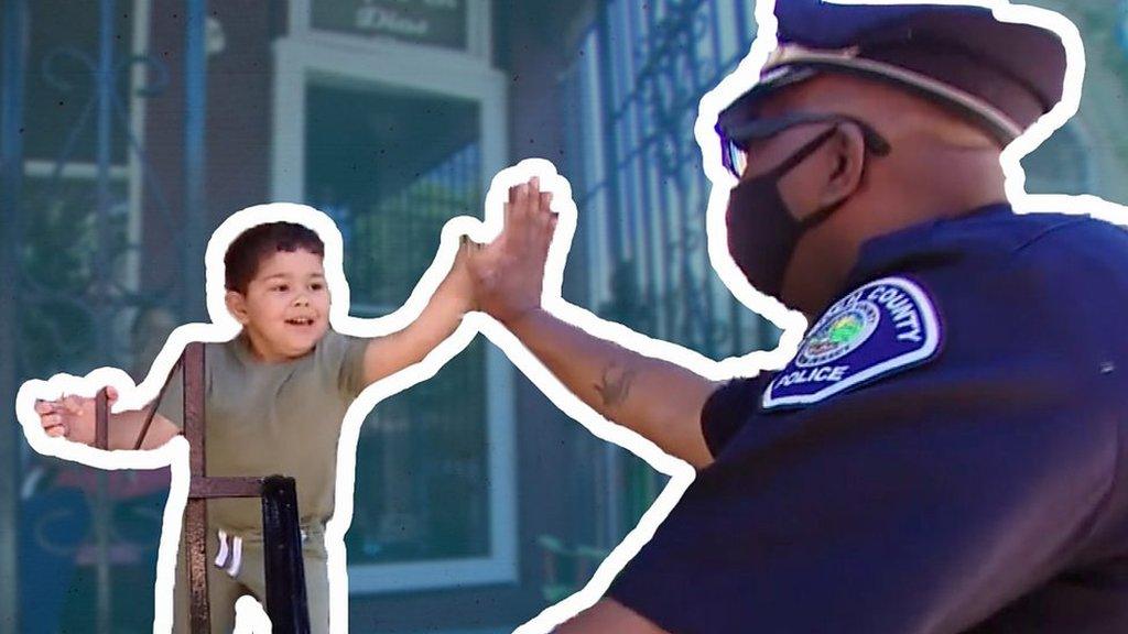
M187 0L184 43L184 316L203 316L203 244L208 230L204 147L208 114L206 0Z

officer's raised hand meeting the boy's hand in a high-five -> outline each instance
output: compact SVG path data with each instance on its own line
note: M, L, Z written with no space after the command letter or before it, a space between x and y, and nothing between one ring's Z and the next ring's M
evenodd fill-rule
M479 309L503 324L540 307L545 261L556 229L550 204L552 193L540 191L537 177L510 187L501 235L469 258Z

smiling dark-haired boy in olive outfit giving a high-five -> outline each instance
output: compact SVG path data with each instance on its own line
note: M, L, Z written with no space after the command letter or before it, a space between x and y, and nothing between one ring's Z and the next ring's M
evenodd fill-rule
M243 331L205 347L206 460L210 476L284 474L296 478L314 632L328 631L324 525L333 514L336 449L345 411L368 385L421 361L473 308L466 246L430 303L409 326L364 340L328 328L329 293L320 238L289 222L244 231L223 258L227 308ZM144 440L159 447L180 433L182 381L173 376ZM111 398L116 394L111 393ZM148 410L148 408L147 408ZM47 434L94 441L91 398L39 402ZM147 411L111 420L112 449L132 449ZM235 602L265 602L262 507L257 499L208 502L212 632L235 626ZM177 567L174 632L188 631L184 553Z

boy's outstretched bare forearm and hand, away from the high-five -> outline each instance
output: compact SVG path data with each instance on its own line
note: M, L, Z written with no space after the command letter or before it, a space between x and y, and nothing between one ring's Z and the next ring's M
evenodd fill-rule
M117 400L117 390L107 388L109 402ZM94 444L94 399L86 396L68 395L58 400L39 400L35 404L39 423L50 437L62 437L71 442ZM138 433L144 424L147 410L116 412L109 415L109 449L133 449ZM156 449L180 433L171 421L153 414L142 449Z

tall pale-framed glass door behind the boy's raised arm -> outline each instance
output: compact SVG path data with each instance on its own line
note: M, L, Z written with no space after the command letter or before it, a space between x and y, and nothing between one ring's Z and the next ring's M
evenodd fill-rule
M403 44L288 38L276 54L274 199L334 217L352 314L385 315L434 258L443 223L482 215L504 161L503 80L481 60L428 64ZM515 580L511 373L479 338L376 406L346 535L353 593Z

